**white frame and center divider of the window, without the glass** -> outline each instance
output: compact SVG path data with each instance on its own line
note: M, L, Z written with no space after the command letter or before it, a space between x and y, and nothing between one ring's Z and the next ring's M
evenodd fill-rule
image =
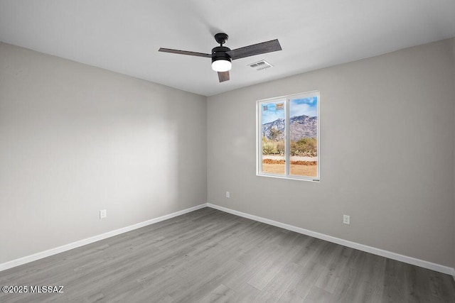
M292 99L299 99L299 98L308 98L308 97L318 97L318 133L317 133L317 148L318 148L318 167L317 167L317 177L311 176L297 176L297 175L290 175L289 168L290 168L290 148L289 148L289 102ZM277 175L267 172L262 172L262 104L264 103L271 103L275 101L284 101L284 119L285 119L285 126L284 126L284 145L286 153L285 153L285 173L284 175ZM311 91L311 92L304 92L300 94L291 94L282 97L274 97L270 99L262 99L256 101L256 175L259 177L274 177L274 178L281 178L281 179L289 179L289 180L302 180L302 181L311 181L311 182L319 182L321 180L321 140L320 140L320 133L321 133L321 94L319 91Z

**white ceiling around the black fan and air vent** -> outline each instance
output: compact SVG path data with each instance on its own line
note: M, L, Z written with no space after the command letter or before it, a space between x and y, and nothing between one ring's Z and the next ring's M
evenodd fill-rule
M233 61L223 83L210 58L158 52L210 53L218 32L283 50ZM454 35L455 0L0 0L5 43L205 96Z

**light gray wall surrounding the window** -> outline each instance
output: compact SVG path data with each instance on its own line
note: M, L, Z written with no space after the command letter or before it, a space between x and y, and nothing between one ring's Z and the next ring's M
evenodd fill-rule
M208 202L453 267L453 44L208 97ZM256 101L316 89L321 182L257 177Z

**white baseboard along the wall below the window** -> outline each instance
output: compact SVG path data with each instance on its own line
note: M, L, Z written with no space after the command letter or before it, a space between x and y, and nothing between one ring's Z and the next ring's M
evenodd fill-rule
M311 237L314 237L314 238L319 238L321 240L325 240L325 241L328 241L328 242L340 244L342 246L347 246L347 247L350 247L350 248L355 248L355 249L358 249L358 250L362 250L362 251L365 251L366 253L373 253L374 255L380 255L382 257L390 258L392 260L397 260L397 261L401 261L401 262L404 262L404 263L417 265L417 266L419 266L421 268L427 268L429 270L442 272L442 273L445 273L447 275L452 275L454 277L454 280L455 280L455 269L454 268L449 268L448 266L439 265L439 264L428 262L428 261L424 261L424 260L419 260L417 258L408 257L407 255L400 255L399 253L392 253L392 252L390 252L388 250L382 250L380 248L374 248L372 246L366 246L366 245L363 245L363 244L360 244L360 243L355 243L355 242L352 242L352 241L343 240L341 238L328 236L328 235L325 235L323 233L316 233L315 231L309 231L308 229L305 229L305 228L291 226L291 225L288 225L288 224L284 224L284 223L281 223L281 222L277 222L277 221L273 221L273 220L270 220L270 219L262 218L260 216L255 216L255 215L252 215L252 214L246 214L246 213L244 213L242 211L235 211L233 209L228 209L226 207L218 206L218 205L211 204L211 203L208 203L207 206L211 207L213 209L218 209L220 211L225 211L225 212L227 212L229 214L235 214L237 216L242 216L242 217L247 218L247 219L252 219L252 220L259 221L259 222L262 222L262 223L265 223L265 224L281 227L281 228L287 229L289 231L295 231L296 233L302 233L302 234L307 235L307 236L311 236Z

